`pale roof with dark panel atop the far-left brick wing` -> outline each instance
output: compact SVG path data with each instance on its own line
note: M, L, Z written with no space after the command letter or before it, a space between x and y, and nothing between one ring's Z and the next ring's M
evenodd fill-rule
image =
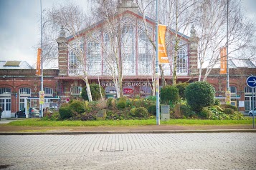
M27 61L0 61L0 69L33 69Z

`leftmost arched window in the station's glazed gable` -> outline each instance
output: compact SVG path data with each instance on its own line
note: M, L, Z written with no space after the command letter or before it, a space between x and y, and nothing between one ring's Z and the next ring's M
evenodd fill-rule
M69 74L82 75L82 64L84 59L84 41L78 39L72 43L72 48L69 53Z

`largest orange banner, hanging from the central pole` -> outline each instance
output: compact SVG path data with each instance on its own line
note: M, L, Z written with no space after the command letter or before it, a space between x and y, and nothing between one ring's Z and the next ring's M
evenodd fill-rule
M159 64L169 63L166 53L166 26L158 25L158 62Z

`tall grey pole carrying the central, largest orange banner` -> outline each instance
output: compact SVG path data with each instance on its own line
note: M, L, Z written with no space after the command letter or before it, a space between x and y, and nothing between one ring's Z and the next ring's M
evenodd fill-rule
M159 64L158 64L158 0L156 0L156 125L160 125L159 109Z

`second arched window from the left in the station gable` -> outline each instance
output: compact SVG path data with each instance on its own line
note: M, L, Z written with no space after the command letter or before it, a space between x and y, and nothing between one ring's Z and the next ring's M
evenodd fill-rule
M95 40L87 41L86 48L86 71L89 75L101 74L101 48L100 43Z

